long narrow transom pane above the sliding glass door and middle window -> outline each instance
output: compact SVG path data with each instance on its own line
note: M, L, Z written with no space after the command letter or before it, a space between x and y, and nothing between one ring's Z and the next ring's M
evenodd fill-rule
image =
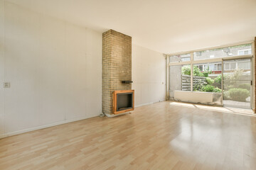
M213 50L204 50L194 52L194 60L206 60L210 58L231 57L236 55L251 55L252 44L235 45L231 47L216 48Z

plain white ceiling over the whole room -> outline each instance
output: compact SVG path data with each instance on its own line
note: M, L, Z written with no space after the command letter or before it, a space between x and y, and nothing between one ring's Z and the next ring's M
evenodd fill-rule
M256 0L6 0L158 52L253 40Z

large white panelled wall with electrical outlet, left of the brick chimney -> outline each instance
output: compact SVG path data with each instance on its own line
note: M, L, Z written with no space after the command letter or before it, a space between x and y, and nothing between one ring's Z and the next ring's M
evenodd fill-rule
M101 113L102 33L0 0L0 35L0 137Z

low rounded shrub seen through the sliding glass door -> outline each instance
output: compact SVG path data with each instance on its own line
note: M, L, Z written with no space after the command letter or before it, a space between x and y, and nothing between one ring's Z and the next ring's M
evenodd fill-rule
M247 89L233 88L229 89L228 92L233 101L246 101L246 98L250 96Z

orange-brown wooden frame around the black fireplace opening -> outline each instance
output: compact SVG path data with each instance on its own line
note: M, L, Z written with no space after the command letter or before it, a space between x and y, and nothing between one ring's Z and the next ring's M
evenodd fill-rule
M123 110L123 111L117 111L117 94L126 94L126 93L132 93L132 108ZM114 115L117 115L119 113L126 113L129 111L134 111L134 90L122 90L122 91L113 91L113 113Z

